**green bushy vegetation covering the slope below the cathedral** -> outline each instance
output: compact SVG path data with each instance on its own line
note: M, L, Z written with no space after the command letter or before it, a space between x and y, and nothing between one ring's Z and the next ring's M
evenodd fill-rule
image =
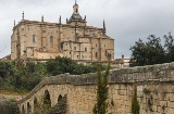
M18 92L30 91L45 77L64 73L80 75L94 73L96 69L95 63L77 64L71 59L60 56L37 64L32 61L3 61L0 62L0 89ZM101 69L104 69L104 66L101 66Z

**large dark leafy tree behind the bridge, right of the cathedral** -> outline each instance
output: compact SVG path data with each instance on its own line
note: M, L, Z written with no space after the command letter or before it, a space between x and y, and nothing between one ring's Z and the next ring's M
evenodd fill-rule
M165 63L165 50L161 45L160 37L157 38L154 35L150 35L147 42L139 41L135 42L135 46L130 48L132 58L130 66L142 66Z

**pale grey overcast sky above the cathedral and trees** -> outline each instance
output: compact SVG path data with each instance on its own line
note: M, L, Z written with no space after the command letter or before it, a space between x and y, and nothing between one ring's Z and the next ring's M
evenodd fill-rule
M65 23L73 13L75 0L0 0L0 58L11 53L11 35L14 20ZM87 25L102 27L115 40L115 58L130 56L129 48L139 38L146 40L172 31L174 35L174 0L77 0L79 14L87 16Z

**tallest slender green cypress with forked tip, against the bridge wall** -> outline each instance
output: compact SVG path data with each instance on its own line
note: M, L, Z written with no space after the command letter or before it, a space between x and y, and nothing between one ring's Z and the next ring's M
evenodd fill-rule
M107 67L104 75L101 74L100 65L98 65L97 74L97 103L94 106L94 114L107 114L109 103L107 102L109 94L109 78L110 63Z

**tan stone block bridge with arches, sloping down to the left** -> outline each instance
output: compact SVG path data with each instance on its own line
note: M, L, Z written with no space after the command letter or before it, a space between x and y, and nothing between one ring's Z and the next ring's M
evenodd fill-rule
M21 113L34 114L64 102L65 114L92 114L96 76L63 74L45 78L18 102ZM132 114L135 84L140 114L174 114L174 63L111 69L109 113Z

